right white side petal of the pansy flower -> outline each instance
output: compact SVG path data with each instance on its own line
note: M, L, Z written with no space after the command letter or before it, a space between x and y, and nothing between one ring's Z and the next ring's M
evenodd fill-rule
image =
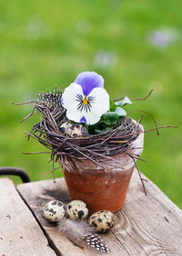
M94 97L94 102L92 103L91 112L93 115L101 116L103 113L109 110L109 95L103 88L95 88L89 94L88 97Z

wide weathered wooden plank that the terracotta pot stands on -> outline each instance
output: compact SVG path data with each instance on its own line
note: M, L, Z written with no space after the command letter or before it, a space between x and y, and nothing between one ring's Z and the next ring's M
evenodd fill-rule
M131 180L126 205L116 212L116 227L103 235L110 248L110 255L182 255L182 211L177 208L150 180L146 178L147 196L136 170ZM54 224L43 218L43 207L52 199L69 202L65 179L23 184L17 187L27 204L35 212L51 240L54 240L61 255L100 255L95 250L76 247L58 233Z

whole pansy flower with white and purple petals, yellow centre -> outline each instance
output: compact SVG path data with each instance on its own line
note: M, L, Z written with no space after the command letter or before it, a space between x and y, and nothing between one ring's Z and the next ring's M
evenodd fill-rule
M82 72L62 95L66 117L76 123L95 124L109 110L104 80L96 72Z

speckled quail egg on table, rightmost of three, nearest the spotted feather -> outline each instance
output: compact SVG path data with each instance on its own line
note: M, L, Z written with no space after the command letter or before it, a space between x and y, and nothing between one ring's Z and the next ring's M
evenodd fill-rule
M88 224L94 227L97 232L106 233L109 229L114 227L115 217L109 210L99 210L90 216Z

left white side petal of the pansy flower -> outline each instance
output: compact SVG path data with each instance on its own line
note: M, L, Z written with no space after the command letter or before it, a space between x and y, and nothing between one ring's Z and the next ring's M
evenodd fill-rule
M71 83L68 87L66 87L62 95L63 106L66 110L76 111L78 104L76 101L76 94L80 94L84 97L81 85Z

